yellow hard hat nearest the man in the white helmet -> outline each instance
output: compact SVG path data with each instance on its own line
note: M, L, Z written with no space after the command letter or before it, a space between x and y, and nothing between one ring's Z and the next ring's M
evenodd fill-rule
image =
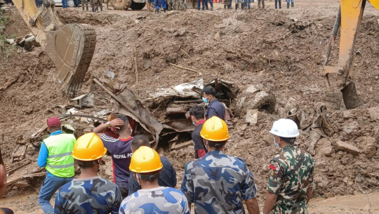
M227 124L218 116L212 116L208 119L200 131L201 138L210 141L225 141L229 139L229 131L227 131Z

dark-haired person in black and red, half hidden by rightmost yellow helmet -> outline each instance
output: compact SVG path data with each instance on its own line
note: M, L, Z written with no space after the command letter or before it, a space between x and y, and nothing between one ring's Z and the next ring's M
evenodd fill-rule
M189 115L191 116L192 123L194 126L197 126L194 131L192 131L191 137L194 141L194 149L195 149L195 159L199 159L206 155L208 149L206 149L204 139L201 138L200 131L203 128L204 120L204 108L195 105L191 109L189 109Z

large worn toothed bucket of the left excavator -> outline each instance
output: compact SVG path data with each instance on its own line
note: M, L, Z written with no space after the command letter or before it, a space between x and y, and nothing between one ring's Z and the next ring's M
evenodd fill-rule
M65 84L67 95L75 96L81 88L95 45L96 34L90 25L64 25L48 34L45 51L55 63L58 82Z

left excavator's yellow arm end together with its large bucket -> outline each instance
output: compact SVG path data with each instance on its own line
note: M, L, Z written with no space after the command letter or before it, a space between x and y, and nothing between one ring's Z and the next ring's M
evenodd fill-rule
M53 60L58 82L63 84L66 94L76 95L95 51L95 29L85 24L63 25L53 0L44 0L40 8L36 7L34 0L13 0L13 3L36 41Z

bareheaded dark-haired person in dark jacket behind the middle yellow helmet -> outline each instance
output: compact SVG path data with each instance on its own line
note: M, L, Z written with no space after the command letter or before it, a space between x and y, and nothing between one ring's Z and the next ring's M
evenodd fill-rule
M145 135L137 135L133 138L131 148L132 152L134 153L139 149L140 147L150 147L149 139ZM173 165L171 165L170 161L168 159L161 156L161 162L163 164L163 168L161 169L161 174L158 178L158 185L161 187L176 187L176 171L175 168L173 168ZM133 172L131 172L131 175L129 177L129 194L131 195L138 190L141 189L140 184L134 179Z

